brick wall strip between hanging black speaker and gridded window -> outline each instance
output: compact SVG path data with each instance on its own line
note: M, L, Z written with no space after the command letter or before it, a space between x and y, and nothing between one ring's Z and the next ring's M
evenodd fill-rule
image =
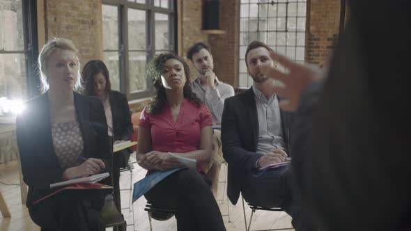
M238 49L240 44L240 1L220 1L219 16L219 27L226 33L209 35L214 69L220 80L236 87L238 86Z

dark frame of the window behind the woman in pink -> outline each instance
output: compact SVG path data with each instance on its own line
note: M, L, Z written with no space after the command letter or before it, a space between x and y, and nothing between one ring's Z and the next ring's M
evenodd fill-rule
M146 3L127 0L102 0L102 5L117 6L118 8L118 50L106 50L103 47L103 54L104 52L118 51L121 93L124 93L129 100L151 97L153 95L153 86L149 80L147 81L146 90L130 92L129 51L133 50L129 50L128 9L146 11L146 63L148 63L155 56L155 13L169 16L168 51L173 53L177 51L177 1L169 0L169 8L154 6L154 0L146 0Z

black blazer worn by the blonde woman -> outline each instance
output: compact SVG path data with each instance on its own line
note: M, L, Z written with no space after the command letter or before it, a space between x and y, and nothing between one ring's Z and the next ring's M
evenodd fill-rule
M103 159L111 166L107 122L100 99L74 93L75 109L84 141L84 156ZM17 144L24 182L29 186L27 207L52 193L49 185L62 181L63 168L54 152L47 93L25 102L17 116Z

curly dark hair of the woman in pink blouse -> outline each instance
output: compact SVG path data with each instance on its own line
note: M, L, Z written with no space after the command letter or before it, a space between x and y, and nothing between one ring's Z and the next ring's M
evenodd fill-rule
M167 101L166 89L161 84L161 75L164 63L166 63L169 59L176 59L183 64L186 80L183 87L183 95L185 99L189 99L189 101L196 104L196 106L201 106L201 100L192 91L192 86L189 81L189 67L183 58L171 53L159 54L153 58L147 68L147 77L153 81L153 86L157 90L157 93L153 97L152 101L147 105L146 109L151 115L156 115L157 113L162 112Z

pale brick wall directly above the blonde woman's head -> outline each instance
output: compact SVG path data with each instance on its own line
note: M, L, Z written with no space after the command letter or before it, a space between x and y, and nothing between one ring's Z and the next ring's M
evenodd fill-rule
M102 58L100 0L45 0L44 13L46 40L72 40L83 65L91 58Z

